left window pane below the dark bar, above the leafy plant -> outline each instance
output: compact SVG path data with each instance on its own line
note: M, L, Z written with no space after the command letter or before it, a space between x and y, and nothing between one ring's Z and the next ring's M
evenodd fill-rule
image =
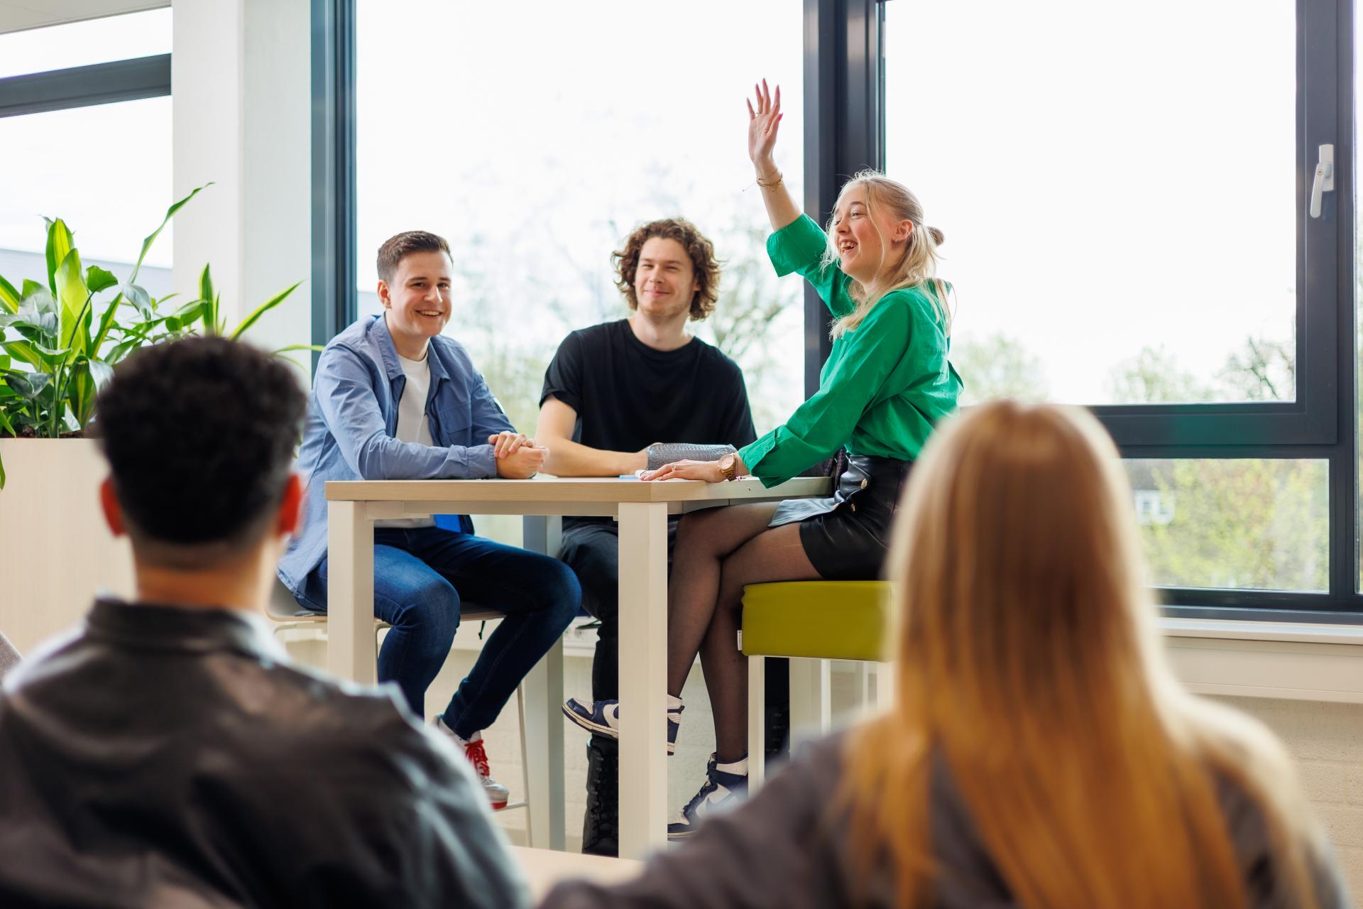
M0 275L48 282L46 217L67 222L85 263L125 279L173 202L170 98L4 117L0 149ZM138 279L153 296L170 289L172 234L168 225Z

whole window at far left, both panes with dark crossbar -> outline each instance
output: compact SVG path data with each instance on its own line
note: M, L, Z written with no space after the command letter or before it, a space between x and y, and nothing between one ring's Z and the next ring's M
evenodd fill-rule
M170 15L154 10L0 34L0 147L8 177L0 274L15 286L25 278L46 283L44 217L67 222L86 264L124 278L143 237L165 215L173 200ZM135 72L119 87L128 75L123 64L135 64ZM173 224L139 274L153 296L170 290L172 248Z

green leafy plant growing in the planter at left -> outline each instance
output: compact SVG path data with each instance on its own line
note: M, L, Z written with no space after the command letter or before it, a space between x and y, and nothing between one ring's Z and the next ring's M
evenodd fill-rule
M138 262L124 282L98 266L82 270L70 228L60 218L45 219L46 286L25 281L16 290L0 277L0 435L56 439L80 433L94 416L99 388L135 350L192 334L226 334L236 339L297 289L294 283L274 294L228 333L207 266L199 297L173 309L168 303L174 294L153 300L138 285L151 244L174 213L203 188L166 210L161 225L142 241ZM286 350L301 348L311 349L298 345ZM3 463L0 488L4 488Z

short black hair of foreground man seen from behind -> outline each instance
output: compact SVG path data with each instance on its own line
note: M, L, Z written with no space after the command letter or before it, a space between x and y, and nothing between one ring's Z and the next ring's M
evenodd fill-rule
M134 545L258 542L305 409L292 367L241 342L185 338L128 357L95 401L94 435Z

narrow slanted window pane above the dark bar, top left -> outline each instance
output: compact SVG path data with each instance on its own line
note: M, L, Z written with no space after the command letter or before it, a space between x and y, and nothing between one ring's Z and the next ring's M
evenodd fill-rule
M0 79L170 53L170 8L0 34Z

